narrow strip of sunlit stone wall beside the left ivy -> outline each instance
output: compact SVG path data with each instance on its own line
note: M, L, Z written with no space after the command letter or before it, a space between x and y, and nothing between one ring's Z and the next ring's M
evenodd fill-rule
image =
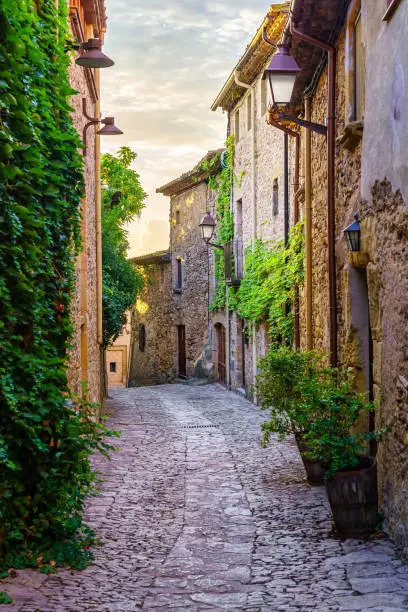
M95 116L84 69L72 60L70 82L78 93L72 97L73 120L82 139L87 119L82 112L82 98L87 110ZM76 291L73 299L73 327L69 384L79 393L81 382L88 383L89 399L101 400L101 350L97 342L97 268L96 268L96 208L95 208L95 129L87 131L87 149L84 164L85 197L82 203L81 233L83 250L76 262Z

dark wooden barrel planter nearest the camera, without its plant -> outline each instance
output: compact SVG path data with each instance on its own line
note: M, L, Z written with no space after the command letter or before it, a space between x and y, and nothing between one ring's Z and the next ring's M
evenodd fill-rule
M377 463L361 457L355 470L336 472L326 490L339 535L353 538L373 533L378 524Z

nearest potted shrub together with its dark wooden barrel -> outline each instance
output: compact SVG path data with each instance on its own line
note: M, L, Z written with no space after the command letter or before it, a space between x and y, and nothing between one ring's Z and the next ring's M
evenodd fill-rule
M369 441L382 432L358 432L361 414L373 410L364 394L353 392L345 375L333 370L320 387L313 422L304 439L311 457L326 466L326 490L337 533L360 537L378 524L377 466Z

